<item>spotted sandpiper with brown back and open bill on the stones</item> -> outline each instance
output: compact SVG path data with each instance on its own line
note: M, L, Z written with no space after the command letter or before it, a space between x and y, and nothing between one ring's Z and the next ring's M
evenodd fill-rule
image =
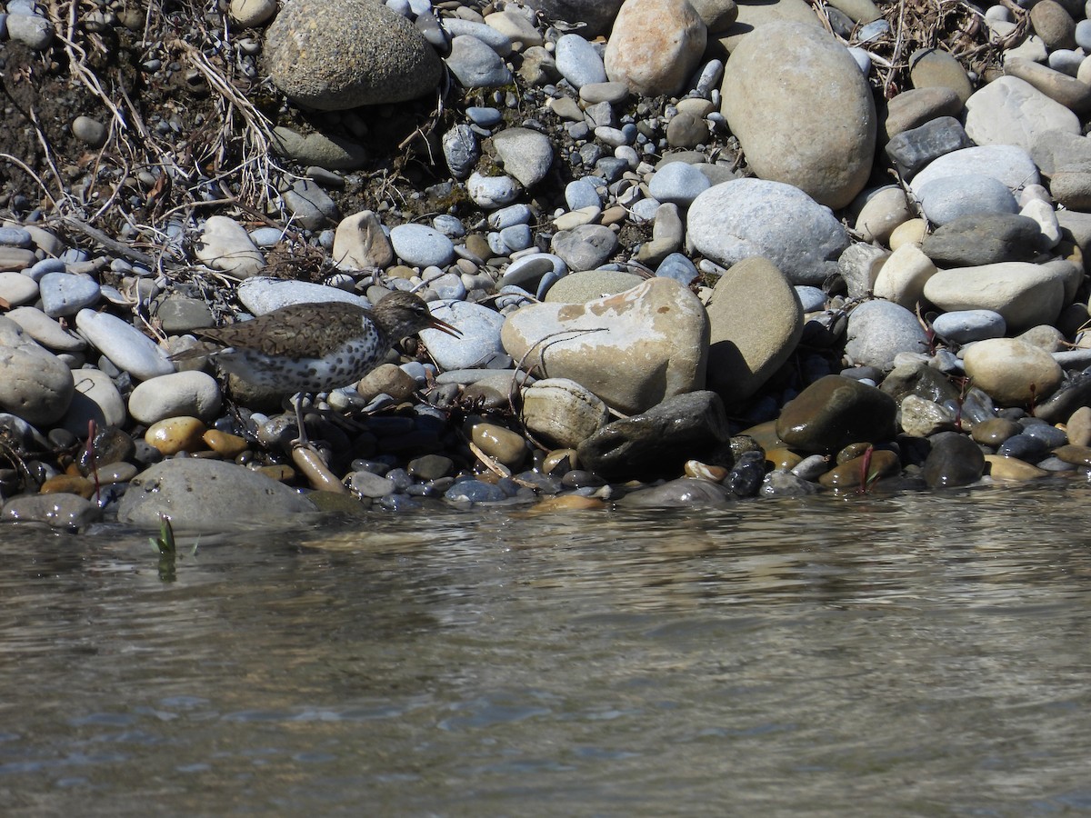
M212 358L252 384L297 393L298 443L305 445L304 394L360 380L394 344L428 328L460 335L432 315L419 296L395 291L371 310L343 302L291 304L252 321L202 329L196 334L216 348L194 347L171 360Z

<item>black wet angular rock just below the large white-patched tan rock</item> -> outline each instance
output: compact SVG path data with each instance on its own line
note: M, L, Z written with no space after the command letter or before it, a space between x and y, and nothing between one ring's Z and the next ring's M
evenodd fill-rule
M730 440L720 396L693 392L607 424L579 444L577 456L584 468L608 480L646 480L680 474L694 457L731 466Z

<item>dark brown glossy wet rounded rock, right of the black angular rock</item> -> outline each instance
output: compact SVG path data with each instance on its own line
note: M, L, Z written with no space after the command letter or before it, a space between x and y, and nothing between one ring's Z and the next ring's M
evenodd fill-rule
M850 443L894 437L898 405L874 386L827 375L789 402L777 420L777 435L802 452L837 452Z

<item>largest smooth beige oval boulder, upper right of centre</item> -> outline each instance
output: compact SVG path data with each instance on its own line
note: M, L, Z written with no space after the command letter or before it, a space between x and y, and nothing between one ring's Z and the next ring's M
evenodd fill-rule
M723 103L746 161L839 208L864 189L875 159L875 103L849 50L802 23L744 37L723 71Z

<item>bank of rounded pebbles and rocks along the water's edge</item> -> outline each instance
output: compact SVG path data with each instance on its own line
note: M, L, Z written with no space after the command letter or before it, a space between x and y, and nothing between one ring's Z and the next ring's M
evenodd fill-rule
M230 210L175 225L204 265L184 274L93 254L48 214L5 222L0 517L1086 479L1091 21L966 9L1002 63L920 49L886 101L874 49L896 33L871 0L232 0L250 70L320 127L274 129L307 168L275 204L328 275L267 275L284 232ZM0 36L47 49L39 12L12 0ZM442 208L341 214L369 118L444 89L441 181L411 194ZM101 124L72 123L88 146ZM424 330L314 397L328 471L292 459L288 396L169 360L229 299L244 320L397 289L461 337Z

